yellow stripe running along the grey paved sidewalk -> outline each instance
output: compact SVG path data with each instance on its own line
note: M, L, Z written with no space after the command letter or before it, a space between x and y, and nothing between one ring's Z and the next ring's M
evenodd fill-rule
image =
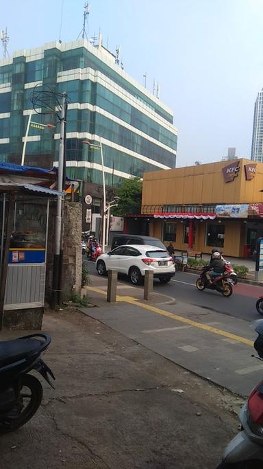
M86 286L86 290L94 291L96 293L100 293L101 295L106 294L105 291L95 286ZM253 347L253 341L246 339L245 337L232 334L231 332L227 332L225 330L213 328L211 325L208 325L208 324L202 324L202 323L198 323L197 321L192 321L192 319L179 316L178 314L173 314L172 312L161 310L160 308L156 308L155 306L151 306L149 304L140 303L140 301L138 301L138 299L134 297L124 297L124 296L122 297L120 295L117 295L116 301L125 301L126 303L132 304L134 306L140 306L140 308L144 308L145 310L156 312L157 314L160 314L161 316L170 317L171 319L175 319L175 321L179 321L181 323L185 323L188 325L193 325L197 329L206 330L208 332L212 332L213 334L227 337L228 339L233 339L234 341L244 343L245 345L249 345L250 347Z

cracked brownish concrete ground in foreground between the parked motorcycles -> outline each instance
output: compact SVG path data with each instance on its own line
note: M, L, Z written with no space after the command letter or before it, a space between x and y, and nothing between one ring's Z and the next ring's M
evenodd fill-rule
M216 467L240 399L80 312L45 314L43 331L55 391L44 382L38 413L1 436L1 468Z

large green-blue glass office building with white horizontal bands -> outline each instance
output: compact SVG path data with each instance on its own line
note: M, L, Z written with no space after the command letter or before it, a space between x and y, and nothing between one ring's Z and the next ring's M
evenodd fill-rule
M32 92L50 87L68 95L68 176L101 183L101 155L84 141L102 143L105 182L175 168L173 113L116 64L103 45L81 40L49 43L0 60L0 161L21 162ZM38 109L41 111L41 108ZM55 115L33 114L25 165L58 164L60 126Z

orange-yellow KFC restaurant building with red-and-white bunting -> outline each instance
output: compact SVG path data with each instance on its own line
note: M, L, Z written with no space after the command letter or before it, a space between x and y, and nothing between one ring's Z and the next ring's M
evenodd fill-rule
M263 236L263 163L237 159L147 172L142 214L149 236L175 249L248 258Z

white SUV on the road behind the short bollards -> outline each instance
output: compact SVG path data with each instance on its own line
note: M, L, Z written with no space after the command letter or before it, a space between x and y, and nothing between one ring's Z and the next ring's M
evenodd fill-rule
M143 244L118 246L112 251L101 254L96 261L99 275L106 275L109 268L129 276L134 285L140 285L145 271L153 271L153 277L162 284L168 284L175 275L175 264L166 249Z

